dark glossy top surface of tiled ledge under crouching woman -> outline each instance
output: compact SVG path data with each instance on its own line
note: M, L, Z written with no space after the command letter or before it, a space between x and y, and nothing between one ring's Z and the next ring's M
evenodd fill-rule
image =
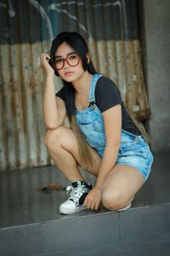
M154 154L155 160L148 181L133 201L133 207L144 207L170 201L170 152ZM95 178L85 173L92 183ZM35 224L56 219L75 218L59 214L59 204L65 201L65 191L39 192L37 187L48 183L68 185L55 166L43 166L21 171L0 172L0 228ZM83 211L78 216L106 212Z

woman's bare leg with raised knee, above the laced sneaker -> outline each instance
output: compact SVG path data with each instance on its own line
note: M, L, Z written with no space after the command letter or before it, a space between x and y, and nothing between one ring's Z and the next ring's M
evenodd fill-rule
M78 166L81 166L78 154L77 139L71 129L59 126L55 130L48 130L44 137L48 152L59 170L63 172L70 182L83 180ZM90 148L90 147L89 147ZM93 148L90 148L94 165L87 170L94 176L98 176L100 158Z

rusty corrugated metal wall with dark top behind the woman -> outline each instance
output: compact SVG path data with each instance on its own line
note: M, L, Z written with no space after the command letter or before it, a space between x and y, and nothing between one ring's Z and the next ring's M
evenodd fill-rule
M0 26L1 171L50 163L39 57L58 32L82 33L99 72L116 82L138 119L149 117L136 0L0 0Z

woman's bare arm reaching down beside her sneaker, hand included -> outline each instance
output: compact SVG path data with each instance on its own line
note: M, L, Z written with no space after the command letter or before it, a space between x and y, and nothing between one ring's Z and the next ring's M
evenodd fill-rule
M101 166L99 169L99 175L94 189L92 189L85 201L84 206L97 210L99 202L101 201L101 187L107 176L108 172L116 164L117 154L121 144L121 130L122 130L122 107L118 104L112 108L109 108L103 113L105 122L105 137L106 146Z

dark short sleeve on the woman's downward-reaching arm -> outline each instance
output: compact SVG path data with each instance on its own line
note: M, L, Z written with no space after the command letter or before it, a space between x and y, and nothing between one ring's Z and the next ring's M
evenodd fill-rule
M117 105L122 104L121 93L110 79L99 78L95 88L95 101L100 112Z

